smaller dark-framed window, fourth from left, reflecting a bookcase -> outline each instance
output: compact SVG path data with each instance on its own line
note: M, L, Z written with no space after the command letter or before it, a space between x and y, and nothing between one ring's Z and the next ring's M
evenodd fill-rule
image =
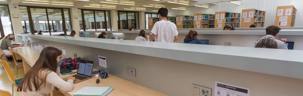
M118 11L119 29L139 29L139 12Z

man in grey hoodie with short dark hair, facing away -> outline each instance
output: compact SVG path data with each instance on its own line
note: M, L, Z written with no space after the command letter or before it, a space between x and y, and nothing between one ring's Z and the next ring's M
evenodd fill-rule
M278 43L279 49L288 49L287 46L285 45L285 43L283 41L278 40L278 36L279 36L279 27L275 26L275 25L271 25L268 26L266 29L266 34L265 36L263 36L262 38L260 38L257 43L264 38L270 38L275 40ZM256 43L256 44L257 44Z

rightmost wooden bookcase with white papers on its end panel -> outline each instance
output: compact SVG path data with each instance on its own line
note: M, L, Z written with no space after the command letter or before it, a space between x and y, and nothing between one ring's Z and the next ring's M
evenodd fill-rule
M275 25L278 27L294 27L297 8L294 5L278 6ZM290 19L291 18L291 19Z

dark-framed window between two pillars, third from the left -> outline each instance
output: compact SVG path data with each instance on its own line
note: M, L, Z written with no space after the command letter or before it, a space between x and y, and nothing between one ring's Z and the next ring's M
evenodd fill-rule
M80 31L111 31L110 13L106 10L78 9Z

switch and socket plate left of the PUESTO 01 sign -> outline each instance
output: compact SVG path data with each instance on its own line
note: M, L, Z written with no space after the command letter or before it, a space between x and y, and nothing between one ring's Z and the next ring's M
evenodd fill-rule
M191 94L194 96L211 96L211 89L191 84Z

